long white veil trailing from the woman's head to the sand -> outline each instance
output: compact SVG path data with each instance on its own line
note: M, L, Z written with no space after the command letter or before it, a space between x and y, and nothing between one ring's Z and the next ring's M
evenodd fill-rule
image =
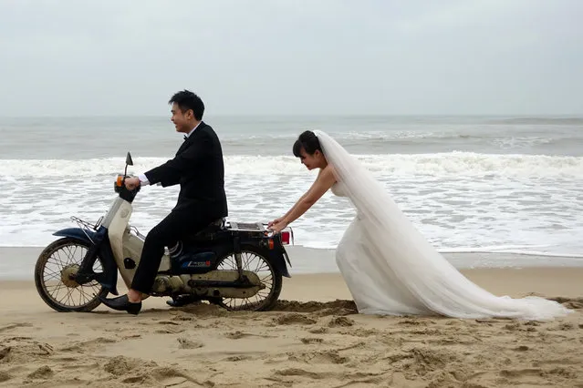
M427 310L451 317L545 320L570 312L556 301L535 296L498 297L469 281L422 236L359 160L325 132L315 133L361 220L359 235L365 236L363 243L370 254L358 260L372 260L371 268L386 275L383 279L387 282L398 280L399 287L406 288ZM381 294L382 288L379 284L373 290Z

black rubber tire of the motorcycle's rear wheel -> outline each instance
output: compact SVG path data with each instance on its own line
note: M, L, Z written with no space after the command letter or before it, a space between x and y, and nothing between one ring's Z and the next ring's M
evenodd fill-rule
M265 299L263 301L259 301L256 303L250 303L250 304L242 305L242 306L238 306L238 307L231 304L230 301L244 301L243 299L240 299L240 298L212 298L210 300L211 302L218 304L219 306L223 307L224 309L226 309L228 311L269 311L269 310L274 308L274 306L276 305L277 299L279 298L279 294L281 293L281 287L282 287L281 273L278 273L274 269L273 264L269 260L266 259L268 257L268 255L266 254L266 251L262 250L258 247L254 247L254 246L244 246L241 248L241 260L243 263L244 270L251 271L249 268L245 268L245 261L246 261L247 265L250 264L250 261L245 260L245 259L248 259L249 257L253 257L253 256L255 256L256 258L259 258L259 260L262 260L265 263L265 270L270 272L270 276L272 278L271 289L269 290ZM236 261L234 261L234 253L229 253L228 255L219 259L217 262L217 269L221 269L222 264L225 264L225 266L226 266L225 269L230 269L230 270L236 269ZM264 266L257 267L257 268L263 269ZM259 278L263 282L265 280L265 277L266 276L264 276L262 278L260 276ZM256 295L259 295L259 293L262 291L264 291L264 290L260 290L259 292L257 292ZM256 295L254 297L252 297L251 299L256 298Z

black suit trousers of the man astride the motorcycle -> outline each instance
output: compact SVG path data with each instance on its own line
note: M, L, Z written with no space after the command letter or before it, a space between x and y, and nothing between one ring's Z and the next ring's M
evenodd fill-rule
M141 250L141 259L131 281L131 289L149 294L160 268L164 247L172 248L178 240L207 227L214 219L205 211L172 211L150 230Z

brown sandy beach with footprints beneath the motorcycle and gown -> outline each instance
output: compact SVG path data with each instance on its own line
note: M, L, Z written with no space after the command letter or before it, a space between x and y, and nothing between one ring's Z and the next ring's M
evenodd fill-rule
M0 281L0 386L583 387L583 269L463 273L574 312L552 322L364 316L339 274L322 273L285 279L275 311L151 298L139 316L59 313L32 281Z

